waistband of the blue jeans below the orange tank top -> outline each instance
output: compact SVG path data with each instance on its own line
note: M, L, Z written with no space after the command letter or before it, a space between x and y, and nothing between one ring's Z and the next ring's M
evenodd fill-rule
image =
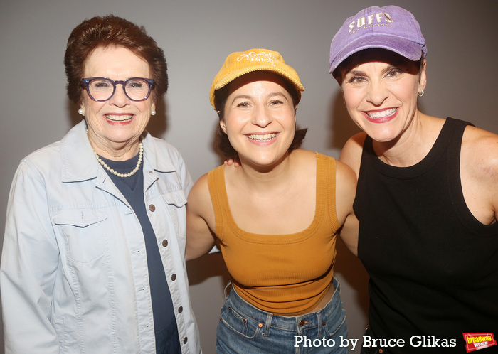
M265 325L265 332L270 331L270 328L278 328L282 331L295 331L300 333L308 328L322 325L327 318L332 318L334 312L342 309L340 297L341 284L335 277L332 279L332 284L335 289L334 294L332 294L332 298L323 309L298 316L277 316L273 313L260 310L252 304L248 304L248 302L237 294L237 291L231 286L231 282L229 282L225 288L226 294L228 286L231 286L231 292L226 296L226 304L228 306L233 306L233 309L243 313L243 316L252 318L262 325ZM268 334L269 333L265 333L265 335Z

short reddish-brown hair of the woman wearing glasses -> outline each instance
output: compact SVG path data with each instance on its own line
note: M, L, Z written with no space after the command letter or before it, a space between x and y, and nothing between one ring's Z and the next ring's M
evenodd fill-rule
M68 38L64 55L65 75L68 78L68 97L79 104L83 98L83 70L85 62L96 48L118 46L131 50L149 63L156 102L168 90L168 73L164 52L143 26L113 15L95 16L76 26Z

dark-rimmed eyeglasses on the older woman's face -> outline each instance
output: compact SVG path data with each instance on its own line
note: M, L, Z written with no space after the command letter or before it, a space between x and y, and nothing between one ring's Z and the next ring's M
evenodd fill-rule
M144 101L150 95L154 80L143 77L130 77L128 80L114 81L107 77L88 77L81 80L90 98L97 102L110 100L116 92L116 85L123 87L124 95L132 101Z

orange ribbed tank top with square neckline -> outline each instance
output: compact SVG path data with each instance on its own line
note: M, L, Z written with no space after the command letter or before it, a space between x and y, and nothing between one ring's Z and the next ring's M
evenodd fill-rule
M334 275L339 221L335 208L336 163L317 153L317 202L312 223L290 235L245 232L235 224L223 165L208 173L216 237L233 286L258 309L288 316L308 313L329 290Z

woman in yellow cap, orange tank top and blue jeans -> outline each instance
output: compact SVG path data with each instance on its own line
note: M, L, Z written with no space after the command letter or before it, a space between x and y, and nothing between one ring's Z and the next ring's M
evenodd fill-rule
M337 232L354 220L356 178L343 163L298 149L303 90L295 70L265 49L228 55L211 87L221 148L240 167L219 166L192 188L187 259L210 250L216 235L232 278L218 353L346 353L333 276ZM347 239L352 250L355 242Z

